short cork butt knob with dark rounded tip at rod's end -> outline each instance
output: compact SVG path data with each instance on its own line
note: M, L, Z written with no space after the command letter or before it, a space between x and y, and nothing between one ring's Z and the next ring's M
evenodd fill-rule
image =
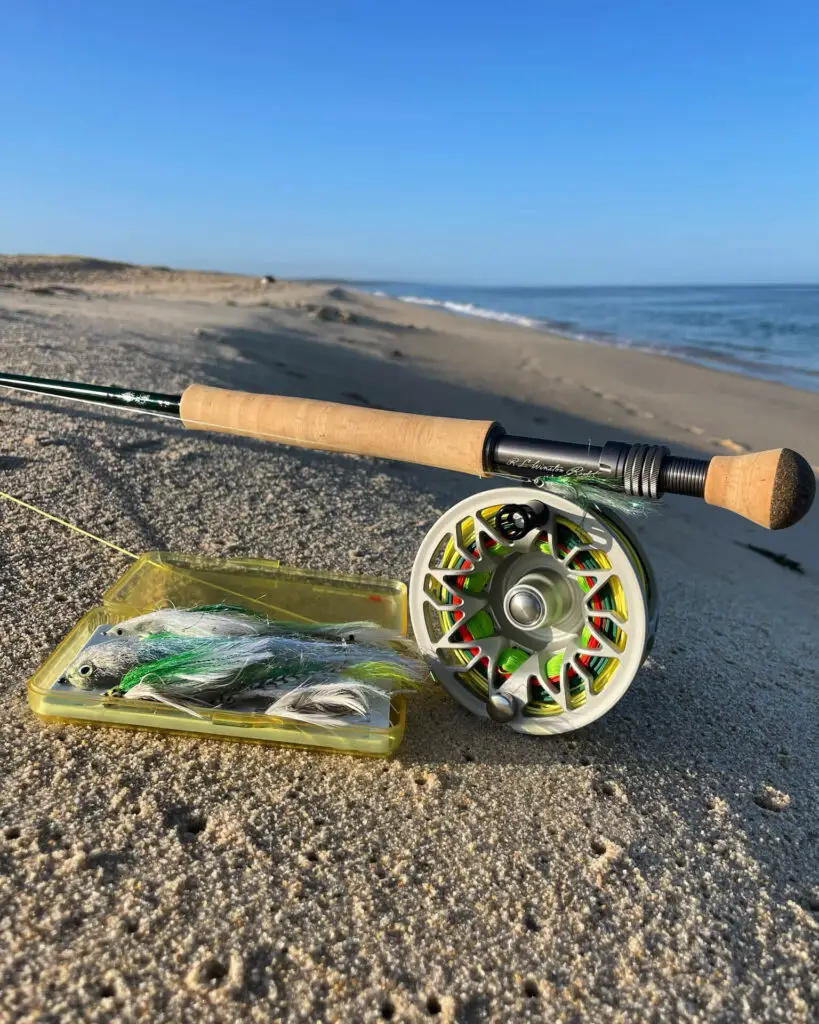
M767 529L799 522L816 495L810 464L790 449L716 456L705 477L705 501Z

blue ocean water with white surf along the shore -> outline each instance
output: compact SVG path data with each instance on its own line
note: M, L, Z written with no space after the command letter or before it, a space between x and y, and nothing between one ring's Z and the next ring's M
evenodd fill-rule
M463 316L663 352L819 391L819 285L467 288L357 282L356 287Z

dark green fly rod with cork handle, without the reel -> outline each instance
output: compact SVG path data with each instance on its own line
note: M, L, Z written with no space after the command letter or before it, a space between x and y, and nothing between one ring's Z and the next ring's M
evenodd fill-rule
M202 384L171 395L1 374L0 386L179 420L190 430L411 462L480 477L529 481L574 477L604 481L636 498L685 495L704 499L768 529L799 522L816 493L813 469L790 449L691 459L672 455L662 444L572 444L509 434L493 421L360 409Z

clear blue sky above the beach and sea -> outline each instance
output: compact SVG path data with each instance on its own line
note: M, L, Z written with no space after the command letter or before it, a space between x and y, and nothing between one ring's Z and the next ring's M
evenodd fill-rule
M0 252L819 283L815 0L0 0Z

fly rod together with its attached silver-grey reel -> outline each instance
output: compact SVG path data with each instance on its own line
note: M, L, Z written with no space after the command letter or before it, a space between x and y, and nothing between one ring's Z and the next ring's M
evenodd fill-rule
M0 387L179 420L189 430L515 480L460 502L433 526L416 558L410 614L446 690L524 733L568 732L600 718L651 648L656 586L606 497L686 495L783 529L816 494L810 463L786 447L695 459L661 444L597 447L508 434L488 420L202 384L177 395L0 374Z

